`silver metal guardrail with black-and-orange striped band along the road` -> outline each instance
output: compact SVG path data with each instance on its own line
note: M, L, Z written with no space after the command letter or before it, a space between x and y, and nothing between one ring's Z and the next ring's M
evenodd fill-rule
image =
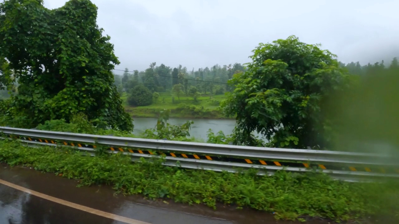
M399 156L376 153L249 147L9 127L0 127L0 132L31 146L57 146L61 143L88 151L91 155L94 155L96 145L105 145L110 153L128 154L132 161L162 154L166 155L164 165L176 166L179 162L180 167L190 169L236 172L237 168L256 168L259 169L259 175L273 175L282 169L309 172L309 168L316 167L321 172L344 181L399 178Z

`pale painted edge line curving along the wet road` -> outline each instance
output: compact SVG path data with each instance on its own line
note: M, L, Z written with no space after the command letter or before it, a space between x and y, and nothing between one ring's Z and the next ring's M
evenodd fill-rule
M98 216L103 216L105 218L110 218L110 219L117 220L117 221L120 221L120 222L125 222L125 223L128 223L128 224L150 224L148 222L142 222L140 220L135 220L135 219L127 218L127 217L124 217L124 216L119 216L117 214L112 214L112 213L100 211L100 210L97 210L97 209L94 209L94 208L89 208L89 207L86 207L86 206L83 206L83 205L80 205L80 204L75 204L73 202L69 202L69 201L66 201L66 200L55 198L53 196L45 195L45 194L39 193L37 191L32 191L32 190L27 189L25 187L21 187L19 185L15 185L13 183L4 181L2 179L0 179L0 184L6 185L8 187L17 189L19 191L22 191L22 192L25 192L25 193L28 193L28 194L31 194L31 195L34 195L34 196L37 196L37 197L52 201L52 202L55 202L55 203L58 203L58 204L62 204L62 205L65 205L65 206L68 206L68 207L71 207L71 208L75 208L75 209L78 209L78 210L89 212L91 214L95 214L95 215L98 215Z

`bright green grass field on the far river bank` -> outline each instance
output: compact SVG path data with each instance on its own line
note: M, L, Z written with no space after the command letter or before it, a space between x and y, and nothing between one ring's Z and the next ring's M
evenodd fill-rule
M213 118L223 119L227 118L223 115L219 108L222 100L226 99L225 94L213 96L199 96L198 102L194 102L192 96L180 96L180 99L169 92L161 92L157 101L153 101L148 106L129 106L126 102L127 94L123 93L121 99L123 106L129 114L138 118L157 118L161 110L171 110L171 117L174 118Z

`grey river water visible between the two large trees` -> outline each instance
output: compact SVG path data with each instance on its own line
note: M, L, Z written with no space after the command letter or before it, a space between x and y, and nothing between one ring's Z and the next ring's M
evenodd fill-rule
M155 128L157 118L133 118L134 134L140 134L146 129ZM188 120L194 121L191 126L190 136L195 137L198 140L207 140L207 131L212 129L214 133L223 131L225 135L229 135L233 132L235 126L235 120L223 120L223 119L188 119L188 118L170 118L169 124L182 125Z

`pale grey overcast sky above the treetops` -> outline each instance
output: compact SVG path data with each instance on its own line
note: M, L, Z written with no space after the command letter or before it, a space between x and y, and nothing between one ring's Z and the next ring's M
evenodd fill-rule
M47 8L66 0L44 0ZM296 35L344 63L399 57L399 0L92 0L120 65L188 70L246 63L258 43Z

